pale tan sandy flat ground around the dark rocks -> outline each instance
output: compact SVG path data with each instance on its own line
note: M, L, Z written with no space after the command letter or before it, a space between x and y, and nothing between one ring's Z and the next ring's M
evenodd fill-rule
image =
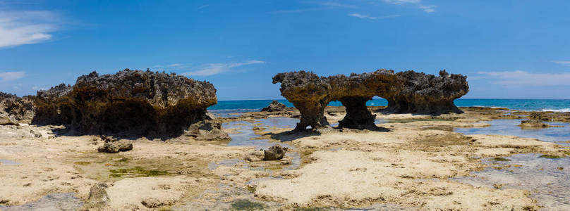
M327 108L326 114L334 124L344 111ZM377 126L384 129L305 134L289 133L296 122L285 117L296 117L296 110L232 115L223 125L230 142L138 138L128 140L132 151L116 154L97 153L102 145L97 136L53 132L60 127L0 126L0 209L37 205L48 194L64 193L71 195L60 197L63 210L75 210L66 206L74 201L67 196L87 203L90 187L98 183L109 186L109 203L100 210L567 208L567 188L554 187L557 193L550 194L542 186L562 185L559 179L543 183L522 176L495 177L534 172L550 178L549 172L555 172L566 178L570 167L562 166L564 160L516 158L532 154L535 159L566 159L562 157L570 149L551 140L466 132L492 128L493 122L485 121L518 120L523 113L467 109L437 117L375 114ZM254 158L276 143L289 147L284 160ZM509 161L490 162L496 158ZM547 171L540 172L540 165ZM520 181L530 184L517 186Z

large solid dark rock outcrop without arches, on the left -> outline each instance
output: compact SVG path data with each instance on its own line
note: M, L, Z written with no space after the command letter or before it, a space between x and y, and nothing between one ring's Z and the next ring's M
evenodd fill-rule
M207 120L206 108L217 103L216 89L174 73L123 70L114 75L92 72L73 86L38 91L34 122L69 124L87 133L179 136Z

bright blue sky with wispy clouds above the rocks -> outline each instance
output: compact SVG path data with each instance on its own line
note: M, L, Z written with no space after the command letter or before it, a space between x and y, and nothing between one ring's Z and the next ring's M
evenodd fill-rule
M0 91L93 70L176 72L219 100L272 99L278 72L468 75L464 98L570 98L570 1L2 1Z

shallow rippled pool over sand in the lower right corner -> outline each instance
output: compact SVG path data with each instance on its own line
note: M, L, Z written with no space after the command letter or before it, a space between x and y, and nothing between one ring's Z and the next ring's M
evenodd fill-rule
M530 196L547 210L570 210L570 158L540 158L540 154L519 154L504 158L504 161L484 159L483 162L492 164L495 168L473 172L475 177L453 180L476 187L529 190ZM505 167L507 165L510 167Z

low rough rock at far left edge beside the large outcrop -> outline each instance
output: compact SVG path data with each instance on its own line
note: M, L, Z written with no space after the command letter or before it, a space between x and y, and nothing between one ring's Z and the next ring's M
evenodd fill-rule
M30 123L34 117L34 97L18 97L0 92L0 125Z

